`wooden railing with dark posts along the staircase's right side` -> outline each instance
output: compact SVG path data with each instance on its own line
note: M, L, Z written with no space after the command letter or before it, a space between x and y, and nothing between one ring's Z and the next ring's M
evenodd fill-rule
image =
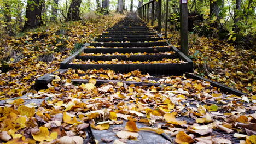
M181 51L188 56L188 0L180 0L180 22L181 22ZM157 7L155 8L157 4ZM169 0L166 0L165 7L165 38L167 38L167 24L168 24L168 6ZM149 10L151 9L151 16L149 16ZM149 23L151 19L151 25L154 25L155 13L157 13L158 32L161 33L162 29L162 0L152 0L141 7L138 7L138 16L145 22Z

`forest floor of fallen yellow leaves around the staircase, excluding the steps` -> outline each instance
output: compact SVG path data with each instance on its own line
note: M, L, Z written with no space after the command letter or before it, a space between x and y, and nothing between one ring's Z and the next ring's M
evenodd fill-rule
M11 140L7 143L54 143L57 137L62 137L59 143L67 139L72 139L71 143L79 143L86 133L91 136L88 135L89 125L83 123L89 121L95 134L95 130L107 133L110 125L121 124L111 131L119 139L106 137L98 140L106 143L132 143L127 139L136 143L136 140L142 141L142 135L137 133L142 131L153 131L177 143L255 143L253 56L256 53L235 49L217 39L191 35L190 55L195 74L204 74L247 93L247 96L224 94L208 82L185 76L149 80L150 75L143 75L137 70L119 74L112 70L69 69L63 75L55 74L48 89L38 92L33 89L34 80L59 69L63 59L124 16L113 14L92 17L87 21L43 26L20 37L1 39L0 59L3 61L0 67L5 69L0 71L0 99L14 99L0 103L0 140ZM172 38L171 43L179 47L178 33L170 33L169 37ZM51 58L52 62L42 62ZM78 78L90 81L76 85L70 80ZM173 85L139 87L119 82L96 86L96 79ZM30 94L20 98L27 93ZM28 103L31 99L38 100Z

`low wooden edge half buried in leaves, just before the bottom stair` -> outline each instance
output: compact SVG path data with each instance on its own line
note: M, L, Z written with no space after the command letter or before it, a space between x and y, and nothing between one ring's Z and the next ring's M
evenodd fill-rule
M75 83L88 83L89 80L87 79L71 79L72 82L75 82ZM161 85L166 85L166 86L172 86L171 84L169 83L152 83L152 82L136 82L136 81L121 81L121 80L101 80L101 79L96 79L96 85L102 85L104 83L110 83L110 82L113 82L113 83L118 83L118 82L123 82L125 83L126 85L131 85L131 84L134 84L136 86L155 86L155 87L158 87L158 86L161 86Z

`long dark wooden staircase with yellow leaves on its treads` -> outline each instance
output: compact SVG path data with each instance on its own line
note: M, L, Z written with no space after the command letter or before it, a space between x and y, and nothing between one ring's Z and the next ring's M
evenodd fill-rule
M68 68L111 69L119 73L138 69L142 73L162 76L192 72L193 62L148 28L136 14L128 14L61 63L60 69Z

